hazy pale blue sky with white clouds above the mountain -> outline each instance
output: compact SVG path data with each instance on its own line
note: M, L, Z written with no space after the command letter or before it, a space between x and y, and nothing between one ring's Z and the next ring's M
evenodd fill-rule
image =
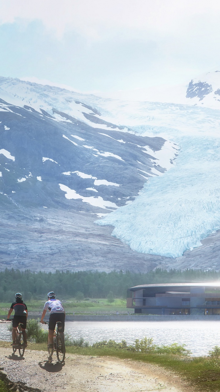
M219 0L0 0L0 75L126 98L220 68Z

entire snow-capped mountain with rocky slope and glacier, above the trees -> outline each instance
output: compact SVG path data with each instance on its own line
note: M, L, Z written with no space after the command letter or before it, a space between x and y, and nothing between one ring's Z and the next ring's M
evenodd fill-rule
M194 82L190 102L201 98ZM4 247L2 260L27 268L28 257L34 262L43 254L61 269L65 254L69 269L146 271L175 267L171 259L178 258L183 269L220 269L216 247L211 260L205 250L201 256L201 241L213 233L211 251L220 229L219 110L103 99L7 78L0 79L0 98L2 210L16 211L16 221L23 211L29 227L26 245L15 243L7 256ZM97 217L103 218L94 225ZM57 241L48 236L53 223ZM30 235L34 225L38 243ZM65 252L71 225L74 249ZM115 227L113 237L106 225ZM67 233L62 245L60 232Z

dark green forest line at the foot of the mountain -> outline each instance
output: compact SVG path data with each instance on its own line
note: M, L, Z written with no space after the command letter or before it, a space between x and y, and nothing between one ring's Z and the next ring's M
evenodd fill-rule
M74 298L82 292L85 298L107 298L110 292L115 297L126 298L129 287L151 283L188 283L220 281L220 271L203 271L157 268L146 273L122 270L112 272L98 271L56 271L31 272L5 269L0 272L0 302L14 300L14 294L21 292L24 300L44 299L53 290L62 299Z

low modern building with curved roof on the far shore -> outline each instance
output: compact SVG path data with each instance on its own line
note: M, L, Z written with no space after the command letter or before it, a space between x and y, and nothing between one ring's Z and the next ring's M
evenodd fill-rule
M127 308L143 314L220 314L220 282L131 287Z

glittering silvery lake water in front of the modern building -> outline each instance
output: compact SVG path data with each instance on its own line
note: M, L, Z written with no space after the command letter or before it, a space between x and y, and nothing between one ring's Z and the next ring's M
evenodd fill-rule
M117 342L125 339L131 344L144 336L159 345L184 343L194 356L207 355L212 347L220 346L218 321L67 321L65 331L70 337L82 337L90 344L109 339ZM0 332L1 340L11 340L7 324L0 323Z

